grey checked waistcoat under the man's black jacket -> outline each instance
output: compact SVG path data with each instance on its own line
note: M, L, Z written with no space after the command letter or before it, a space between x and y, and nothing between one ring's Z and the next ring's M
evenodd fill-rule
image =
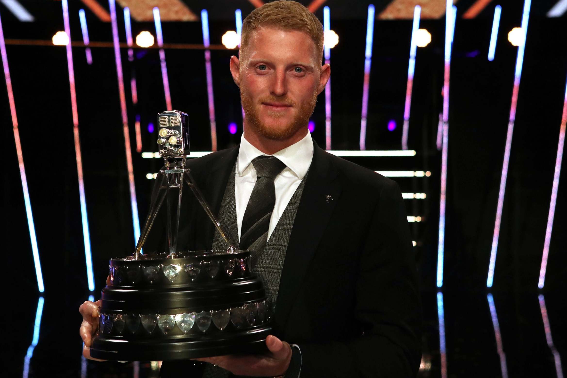
M221 210L218 214L218 220L221 223L222 230L225 231L232 245L238 248L238 221L236 220L236 197L235 197L235 172L236 164L232 167L229 182L226 184L225 194L222 197ZM287 243L293 228L295 214L299 207L299 201L305 186L307 175L295 190L295 193L287 203L284 213L278 220L276 228L270 235L264 250L260 253L258 262L253 268L255 273L264 282L266 295L272 302L272 308L276 310L276 298L278 289L280 288L280 276L284 268L285 254L287 251ZM223 250L229 247L221 234L215 230L213 236L213 249ZM225 369L208 364L205 368L203 378L225 378L230 373Z

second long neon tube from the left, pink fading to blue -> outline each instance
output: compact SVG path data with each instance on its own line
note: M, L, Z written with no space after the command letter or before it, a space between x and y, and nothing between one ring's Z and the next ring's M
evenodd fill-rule
M69 7L67 0L62 0L63 22L65 33L71 41L71 29L69 27ZM83 158L81 156L81 141L79 139L79 114L77 112L77 94L75 92L75 71L73 69L73 52L71 43L66 45L67 50L67 69L69 70L69 88L71 91L71 111L73 112L73 135L75 139L75 158L77 159L77 176L79 178L79 199L81 201L81 219L83 224L84 258L87 264L88 290L95 290L95 277L92 272L91 238L88 233L87 200L84 196L83 180Z

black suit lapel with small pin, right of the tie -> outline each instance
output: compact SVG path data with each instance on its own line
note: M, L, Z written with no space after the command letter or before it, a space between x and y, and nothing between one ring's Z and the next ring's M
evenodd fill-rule
M329 155L315 141L313 144L313 160L287 244L276 303L276 323L282 329L341 193Z

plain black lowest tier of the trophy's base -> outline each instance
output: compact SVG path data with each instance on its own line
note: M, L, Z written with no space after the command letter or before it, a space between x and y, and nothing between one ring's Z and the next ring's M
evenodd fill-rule
M91 356L115 361L164 361L229 354L261 354L268 351L270 326L257 326L230 334L202 335L198 339L137 340L95 337Z

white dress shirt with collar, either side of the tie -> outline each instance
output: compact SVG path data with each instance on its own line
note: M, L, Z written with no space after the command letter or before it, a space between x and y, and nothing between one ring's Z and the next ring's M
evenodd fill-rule
M252 146L244 134L240 139L240 150L238 158L236 158L235 172L235 199L236 199L236 220L238 222L238 239L242 235L242 220L244 212L252 194L252 189L256 184L256 168L252 164L252 160L258 156L266 155L258 148ZM301 141L276 152L271 156L276 156L282 163L286 165L283 171L274 179L276 186L276 205L270 218L270 226L268 228L268 239L272 235L272 231L276 228L278 220L287 206L287 203L295 193L295 189L307 174L307 171L313 160L313 140L311 134L307 135Z

